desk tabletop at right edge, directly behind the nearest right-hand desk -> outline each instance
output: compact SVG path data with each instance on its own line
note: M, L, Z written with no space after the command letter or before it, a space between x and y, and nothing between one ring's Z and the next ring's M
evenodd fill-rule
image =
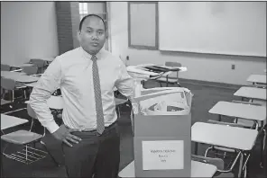
M217 102L209 113L242 118L245 120L266 120L266 107L236 102Z

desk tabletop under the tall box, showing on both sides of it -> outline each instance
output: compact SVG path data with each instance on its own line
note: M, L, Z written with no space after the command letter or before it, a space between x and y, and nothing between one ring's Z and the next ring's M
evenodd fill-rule
M191 161L191 177L212 177L216 173L215 165L208 165L205 163ZM124 167L119 173L119 177L135 177L134 161Z

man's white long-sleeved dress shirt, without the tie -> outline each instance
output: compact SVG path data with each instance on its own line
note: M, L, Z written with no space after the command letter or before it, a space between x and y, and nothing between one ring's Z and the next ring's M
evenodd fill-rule
M134 80L123 61L105 49L97 53L105 126L117 119L114 88L128 98L134 96ZM97 129L97 111L91 55L84 49L70 50L55 58L32 89L30 104L41 125L51 133L59 129L47 100L60 87L64 101L63 123L71 129Z

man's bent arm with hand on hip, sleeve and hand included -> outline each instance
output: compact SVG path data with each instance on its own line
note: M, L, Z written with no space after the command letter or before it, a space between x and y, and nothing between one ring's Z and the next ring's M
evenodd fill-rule
M81 138L71 134L76 129L67 129L64 124L59 127L47 104L51 94L59 88L62 76L60 58L55 58L33 88L30 96L30 105L41 125L48 129L52 136L72 147L72 143L78 144L78 141L81 140Z

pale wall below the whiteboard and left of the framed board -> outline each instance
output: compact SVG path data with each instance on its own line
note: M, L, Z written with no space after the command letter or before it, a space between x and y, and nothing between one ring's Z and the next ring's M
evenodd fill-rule
M178 61L188 67L187 72L180 73L180 78L233 85L247 84L245 80L251 74L264 74L266 58L128 48L127 2L110 2L110 19L112 52L122 58L129 56L130 65ZM231 69L232 65L235 70Z

